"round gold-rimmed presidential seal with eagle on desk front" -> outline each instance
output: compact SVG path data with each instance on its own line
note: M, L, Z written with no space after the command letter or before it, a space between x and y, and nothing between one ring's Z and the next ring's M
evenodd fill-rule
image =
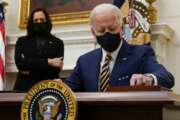
M34 85L21 106L21 120L75 120L77 102L61 80L45 80Z

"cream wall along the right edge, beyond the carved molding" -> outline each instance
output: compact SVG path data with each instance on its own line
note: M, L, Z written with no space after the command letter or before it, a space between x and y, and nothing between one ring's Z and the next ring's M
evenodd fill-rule
M176 79L174 91L180 93L180 0L157 0L156 3L158 23L166 23L175 31L167 47L167 68Z

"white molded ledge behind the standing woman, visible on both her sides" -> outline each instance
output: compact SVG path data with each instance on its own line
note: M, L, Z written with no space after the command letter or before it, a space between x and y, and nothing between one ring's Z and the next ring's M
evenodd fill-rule
M65 70L72 70L78 57L95 48L95 41L89 29L80 27L78 29L64 29L52 31L56 37L61 38L65 44ZM25 33L8 34L6 45L6 72L17 72L14 63L14 47L18 37Z

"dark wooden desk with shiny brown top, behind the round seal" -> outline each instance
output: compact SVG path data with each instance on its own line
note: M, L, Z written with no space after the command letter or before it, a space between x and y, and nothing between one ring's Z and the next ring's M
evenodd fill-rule
M162 120L163 108L174 103L171 91L75 93L77 120ZM0 93L0 119L20 120L25 93Z

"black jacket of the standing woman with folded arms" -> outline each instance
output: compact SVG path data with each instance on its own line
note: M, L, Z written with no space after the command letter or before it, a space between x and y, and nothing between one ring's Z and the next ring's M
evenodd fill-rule
M64 56L63 41L49 35L37 44L37 37L20 37L15 46L15 63L19 70L15 90L27 91L41 80L59 78L59 68L48 65L47 58ZM21 71L29 71L24 74Z

